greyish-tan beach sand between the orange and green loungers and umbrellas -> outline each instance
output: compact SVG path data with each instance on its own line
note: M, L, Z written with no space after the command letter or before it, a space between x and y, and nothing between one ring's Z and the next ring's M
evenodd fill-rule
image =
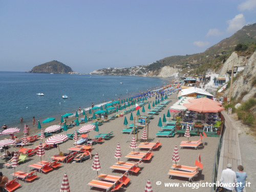
M214 164L214 156L216 152L216 147L219 138L217 137L207 137L203 140L203 146L199 147L198 150L195 150L193 148L183 148L181 149L179 147L179 144L181 140L187 140L186 137L181 137L180 135L175 135L174 137L166 138L166 137L156 137L156 133L160 130L160 128L157 126L159 117L163 117L163 113L165 115L167 114L167 110L169 109L169 106L171 106L174 102L177 101L176 99L177 95L169 96L168 99L172 99L172 102L167 104L165 108L159 113L159 115L155 116L154 119L151 119L149 124L149 138L148 141L150 142L156 142L158 139L160 139L160 142L162 145L157 149L153 151L153 158L151 161L143 161L143 163L140 165L140 171L138 174L131 174L128 176L131 181L129 184L127 184L124 187L121 187L118 191L144 191L144 188L146 186L146 182L148 179L151 180L151 184L154 191L210 191L210 188L203 188L199 187L198 189L192 189L191 187L183 187L181 186L182 183L189 184L191 182L188 181L188 179L182 179L178 177L174 177L172 179L169 179L167 173L170 169L170 166L172 166L172 155L174 151L175 144L178 145L178 152L180 156L180 164L183 165L189 165L194 166L195 160L198 160L198 155L200 153L201 155L201 161L203 163L203 170L199 172L199 176L194 178L194 183L206 183L206 182L212 182L212 168ZM155 98L152 97L148 99L148 101L155 101ZM151 102L151 108L152 102ZM148 112L147 104L145 105L145 110ZM141 112L141 115L146 115L145 113ZM133 115L135 116L136 111L133 112ZM171 116L173 113L171 113ZM112 116L109 115L109 116ZM130 114L125 115L129 124L132 123L130 119ZM81 115L79 116L79 118ZM169 120L169 118L167 118ZM71 119L68 120L70 122ZM97 152L99 154L99 161L101 169L99 170L99 174L111 174L116 176L121 176L123 172L112 172L112 169L110 169L110 166L115 164L117 162L117 159L114 158L116 146L117 143L120 143L121 147L121 153L122 157L120 158L120 161L127 161L125 158L125 155L133 151L129 145L130 141L132 139L132 136L130 139L126 142L129 134L123 134L121 130L125 128L125 125L123 124L124 116L118 117L114 120L111 120L110 122L103 123L99 126L99 133L110 133L111 131L114 132L114 137L110 138L109 140L105 140L101 144L93 145L93 151L92 155L94 158L95 153ZM90 123L90 122L88 122ZM88 124L87 123L87 124ZM163 123L164 124L164 123ZM84 124L80 124L79 126L75 126L72 129L69 129L67 133L73 133L75 130L78 130L79 127L81 127ZM44 125L45 126L45 125ZM46 127L46 126L45 126ZM44 128L45 128L44 127ZM30 127L31 128L31 127ZM142 131L138 133L138 142L144 142L140 140ZM38 133L39 130L37 127L31 128L30 135L35 135ZM61 134L66 134L65 132L62 132ZM91 131L90 138L93 138L98 133L95 131ZM198 140L199 136L191 136L189 140ZM47 139L47 138L46 138ZM45 142L44 139L43 141ZM28 147L32 148L40 143L41 140L37 140L32 144L29 144ZM68 140L64 143L61 143L59 145L60 151L63 153L68 153L68 148L73 146L74 141ZM9 151L14 151L14 147L10 147ZM136 148L135 151L142 151L139 150L139 148ZM45 157L42 157L42 160L46 161L52 161L50 158L53 155L58 154L58 148L53 148L51 150L45 151ZM29 172L28 165L37 163L40 161L40 157L38 156L32 156L29 157L25 163L20 164L18 167L16 167L16 170L22 170L24 172ZM135 162L133 160L128 160L131 162ZM14 173L14 168L5 168L3 164L5 163L5 160L0 160L0 167L2 169L2 172L4 175L8 176L9 179L12 178L10 174ZM47 174L41 174L37 173L39 176L38 179L33 181L32 183L25 183L24 181L19 181L19 183L22 185L19 187L16 191L59 191L61 182L63 179L63 176L65 173L68 175L69 183L70 183L70 189L71 191L105 191L103 189L99 188L91 188L87 184L96 178L97 173L96 171L92 170L92 160L86 160L82 163L63 163L61 166L59 166L57 169L52 170L51 172ZM158 181L161 181L160 185L157 185L156 183ZM172 187L175 189L170 189L170 187L165 187L164 183L179 183L179 187ZM159 182L158 182L159 183Z

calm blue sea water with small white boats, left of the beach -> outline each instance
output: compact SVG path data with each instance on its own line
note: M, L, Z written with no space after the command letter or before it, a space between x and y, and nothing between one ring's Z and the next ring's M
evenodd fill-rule
M121 84L120 82L123 82ZM138 95L139 91L157 89L168 84L166 78L99 76L68 74L37 74L23 72L0 72L0 126L24 127L48 117L75 113L89 108L92 102L102 103ZM36 93L44 93L38 96ZM62 99L62 95L68 99ZM20 123L20 117L24 123Z

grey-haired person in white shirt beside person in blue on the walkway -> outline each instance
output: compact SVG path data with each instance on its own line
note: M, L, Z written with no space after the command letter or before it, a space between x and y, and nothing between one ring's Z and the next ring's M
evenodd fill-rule
M236 173L231 169L232 165L227 164L227 168L222 170L220 182L223 187L223 192L232 192L234 184L237 183Z

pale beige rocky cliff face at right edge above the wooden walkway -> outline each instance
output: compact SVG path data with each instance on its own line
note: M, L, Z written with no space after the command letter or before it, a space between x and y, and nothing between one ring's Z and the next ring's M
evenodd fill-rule
M242 63L239 63L237 59L237 62L234 62L234 66L242 65L246 60L244 71L240 72L242 74L232 83L231 97L236 98L236 100L242 97L242 102L251 97L256 97L256 86L253 84L253 81L256 80L256 51L249 59L242 60ZM225 90L224 97L229 97L229 93L230 88Z

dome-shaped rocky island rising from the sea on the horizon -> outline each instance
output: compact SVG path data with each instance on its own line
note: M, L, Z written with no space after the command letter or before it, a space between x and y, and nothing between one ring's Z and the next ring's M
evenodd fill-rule
M53 60L50 62L43 63L39 66L33 67L29 73L57 73L57 74L67 74L74 73L71 67L66 66L62 62Z

